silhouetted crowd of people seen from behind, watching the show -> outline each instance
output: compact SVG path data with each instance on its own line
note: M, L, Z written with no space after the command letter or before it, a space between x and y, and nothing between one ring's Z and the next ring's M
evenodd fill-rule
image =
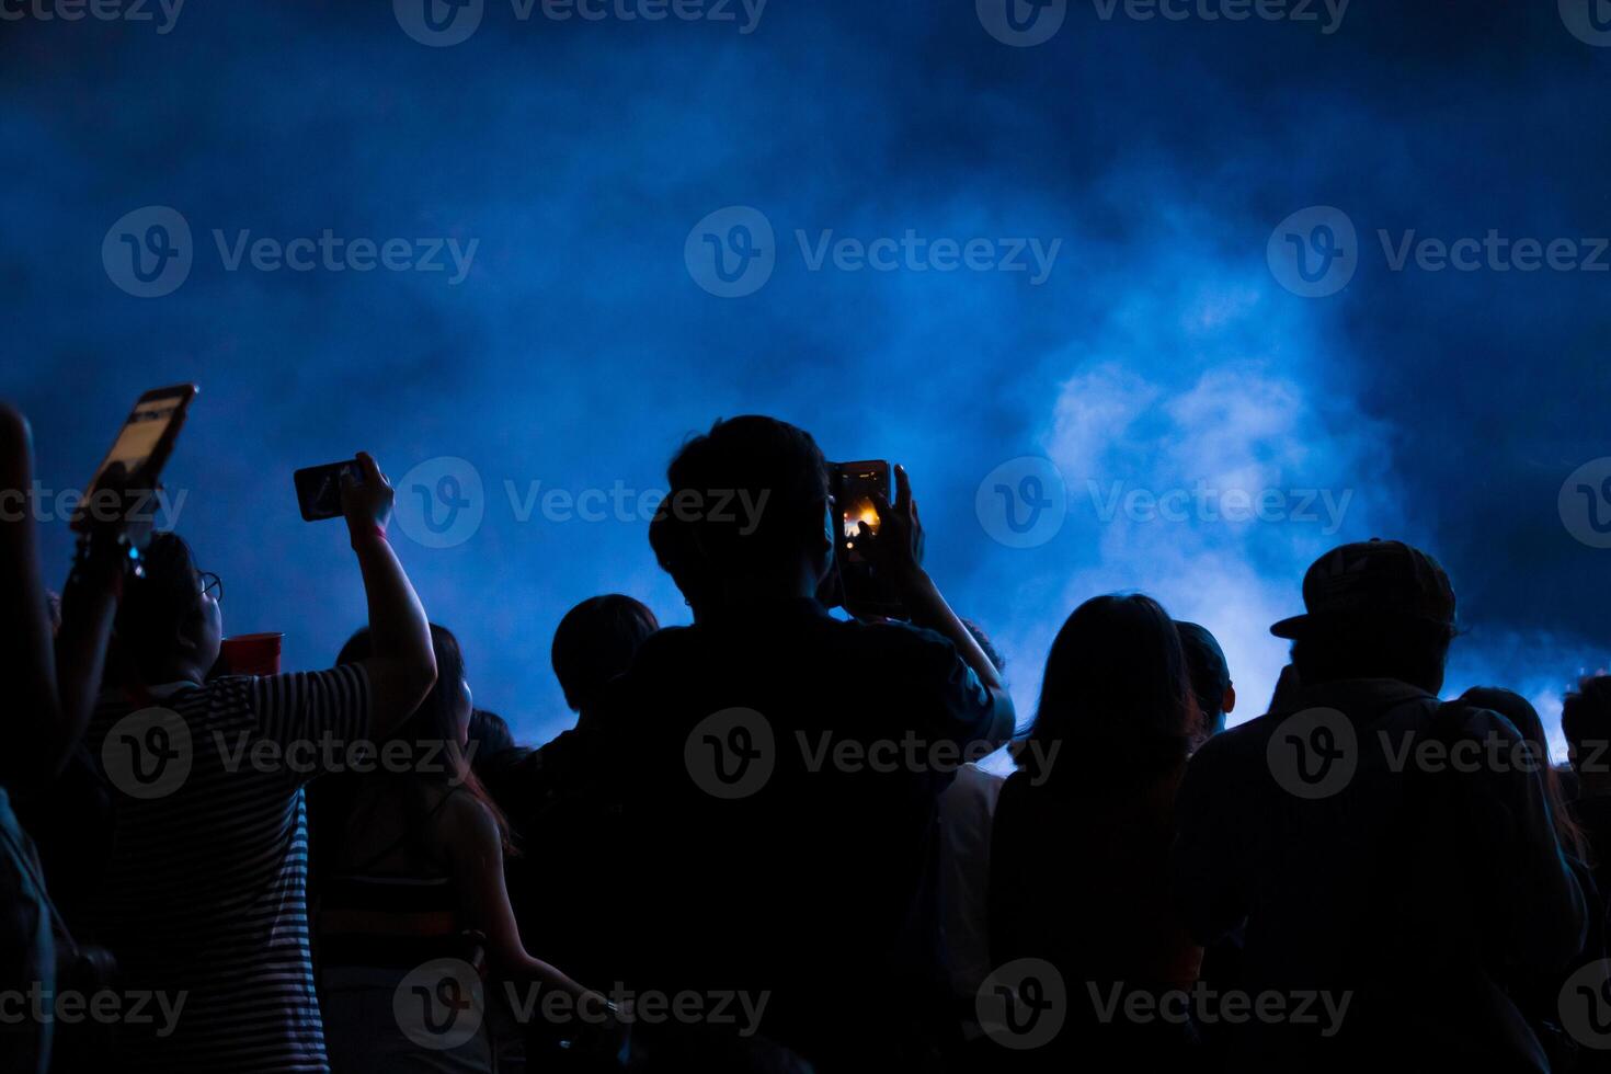
M369 622L322 671L222 668L222 583L176 533L92 522L56 604L32 522L0 525L0 1069L1611 1055L1611 678L1566 699L1559 770L1526 699L1440 700L1455 593L1419 549L1323 556L1239 726L1261 699L1142 594L1073 609L1020 720L923 567L905 472L859 538L901 617L833 613L822 451L722 420L648 533L693 623L572 609L551 662L575 728L530 749L475 708L358 462ZM31 486L10 409L0 470ZM765 510L669 509L717 491Z

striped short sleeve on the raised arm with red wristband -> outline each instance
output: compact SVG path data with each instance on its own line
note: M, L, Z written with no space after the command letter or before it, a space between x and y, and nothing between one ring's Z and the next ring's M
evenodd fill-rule
M325 771L329 758L340 763L346 747L369 737L369 678L358 663L266 675L251 681L250 697L258 734L287 757L314 762L301 771L306 778ZM330 749L332 742L340 749Z

